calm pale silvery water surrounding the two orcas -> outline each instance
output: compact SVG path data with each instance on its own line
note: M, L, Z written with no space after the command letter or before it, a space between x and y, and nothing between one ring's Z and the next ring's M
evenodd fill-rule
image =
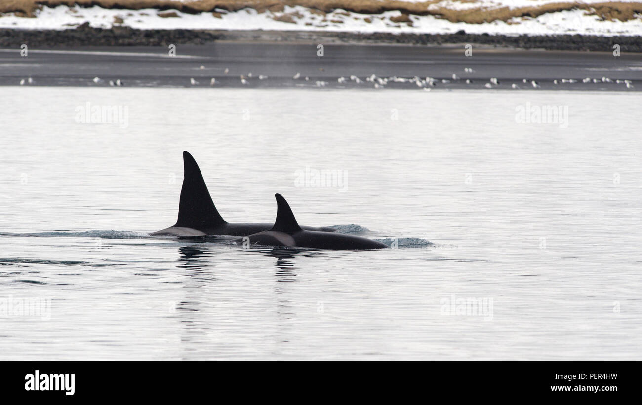
M640 95L0 91L3 360L642 358ZM77 122L87 103L126 120ZM542 105L568 128L517 122ZM184 150L230 222L271 222L279 192L399 249L150 238Z

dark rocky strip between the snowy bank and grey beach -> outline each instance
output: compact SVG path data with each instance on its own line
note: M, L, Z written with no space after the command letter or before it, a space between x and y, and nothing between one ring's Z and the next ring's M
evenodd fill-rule
M74 47L74 46L166 46L168 44L207 44L215 41L317 42L323 44L404 44L455 45L547 49L556 51L642 52L641 37L602 37L597 35L489 35L355 33L334 31L243 31L206 29L134 29L126 26L91 28L82 24L75 29L27 30L0 29L0 47Z

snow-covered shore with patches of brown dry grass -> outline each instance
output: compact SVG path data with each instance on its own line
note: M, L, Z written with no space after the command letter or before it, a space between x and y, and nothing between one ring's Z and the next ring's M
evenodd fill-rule
M194 2L190 0L182 0L182 4L192 3ZM371 0L371 3L377 4L377 0ZM381 2L381 4L388 3ZM372 14L350 12L340 8L324 12L300 5L277 5L259 8L259 10L243 8L236 11L213 8L214 11L200 13L193 13L193 10L192 12L157 8L127 10L100 6L60 5L38 6L30 13L0 14L0 28L70 29L89 22L89 25L94 28L129 26L137 29L264 29L419 34L447 34L464 30L471 34L489 33L490 35L642 36L642 15L637 11L642 10L642 3L636 2L594 4L582 2L583 8L568 6L568 10L542 12L536 17L520 14L525 13L526 9L558 10L564 7L556 4L575 3L559 3L554 0L446 0L390 4L397 3L421 5L426 15L408 13L406 6L401 7L400 10ZM618 7L624 11L618 9L615 3L618 3ZM598 6L598 4L602 5ZM481 23L467 22L467 20L476 21L480 13L489 16L489 19L493 16L501 17ZM512 15L511 13L519 16L507 18L507 15ZM536 15L539 12L526 14L529 13ZM615 17L623 18L625 21Z

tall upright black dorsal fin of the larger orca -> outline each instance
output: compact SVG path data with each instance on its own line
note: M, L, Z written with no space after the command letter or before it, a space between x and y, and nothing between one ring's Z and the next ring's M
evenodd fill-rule
M184 178L175 226L202 231L227 224L216 211L203 175L191 154L183 152Z

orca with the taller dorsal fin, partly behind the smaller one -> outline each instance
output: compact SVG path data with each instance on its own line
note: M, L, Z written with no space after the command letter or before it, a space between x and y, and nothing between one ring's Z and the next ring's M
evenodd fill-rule
M208 236L229 235L247 236L266 231L272 224L229 224L218 213L212 197L207 191L207 185L198 169L198 164L191 154L183 152L185 170L183 186L180 190L178 204L178 220L174 226L154 232L153 236ZM311 227L311 231L334 232L331 227Z

